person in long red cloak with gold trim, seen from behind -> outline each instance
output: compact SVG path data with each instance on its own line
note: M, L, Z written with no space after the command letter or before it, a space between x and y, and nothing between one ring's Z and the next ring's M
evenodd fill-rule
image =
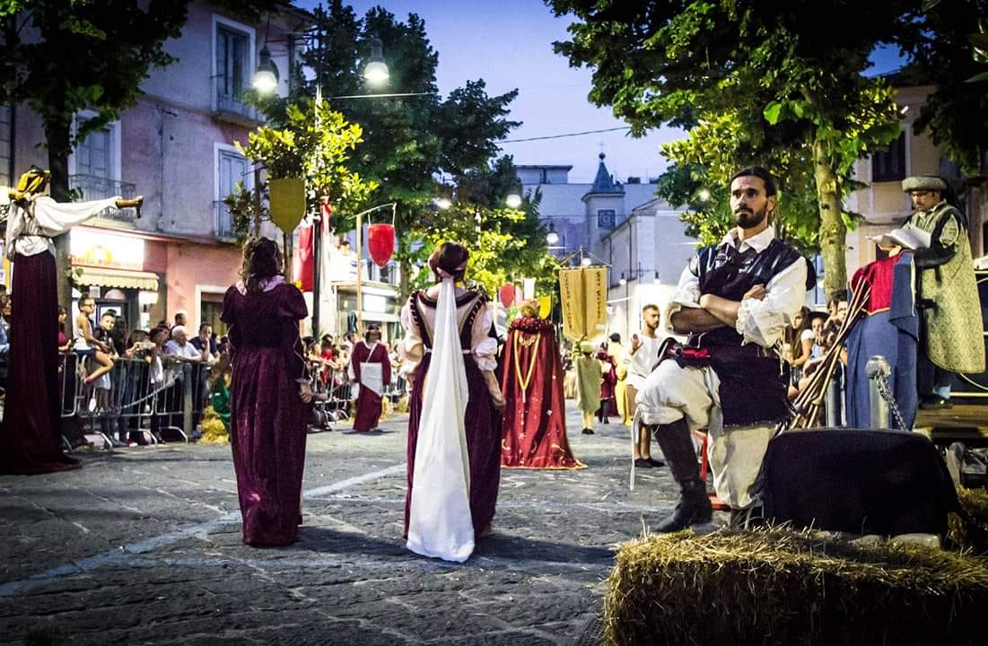
M562 358L552 323L526 301L508 327L501 391L505 397L501 465L582 469L566 439Z

